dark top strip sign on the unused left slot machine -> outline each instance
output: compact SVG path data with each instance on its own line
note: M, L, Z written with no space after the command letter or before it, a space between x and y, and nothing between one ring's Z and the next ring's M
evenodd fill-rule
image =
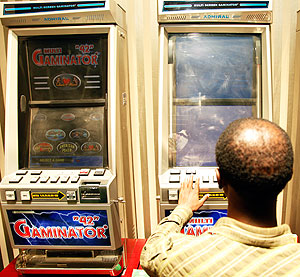
M105 1L40 2L4 4L3 15L36 14L41 12L71 11L105 8Z

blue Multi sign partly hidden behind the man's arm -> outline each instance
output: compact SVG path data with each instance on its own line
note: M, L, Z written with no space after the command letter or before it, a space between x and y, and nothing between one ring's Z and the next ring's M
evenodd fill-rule
M169 216L171 212L172 210L166 210L165 216ZM181 232L186 235L200 236L212 228L219 218L224 216L227 216L227 210L212 209L196 211Z

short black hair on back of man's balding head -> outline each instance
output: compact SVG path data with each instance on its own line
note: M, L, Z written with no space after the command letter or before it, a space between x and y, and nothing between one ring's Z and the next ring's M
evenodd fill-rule
M287 133L265 119L233 121L216 144L224 178L243 198L275 198L293 175L293 148Z

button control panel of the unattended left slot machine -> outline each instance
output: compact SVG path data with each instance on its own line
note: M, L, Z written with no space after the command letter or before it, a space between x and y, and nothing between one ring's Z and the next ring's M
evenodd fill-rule
M109 170L18 170L1 182L2 203L109 203L114 176Z

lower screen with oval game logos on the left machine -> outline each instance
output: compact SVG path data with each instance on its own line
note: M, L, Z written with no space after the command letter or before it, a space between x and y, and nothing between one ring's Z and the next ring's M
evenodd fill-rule
M107 166L104 107L32 108L31 168Z

